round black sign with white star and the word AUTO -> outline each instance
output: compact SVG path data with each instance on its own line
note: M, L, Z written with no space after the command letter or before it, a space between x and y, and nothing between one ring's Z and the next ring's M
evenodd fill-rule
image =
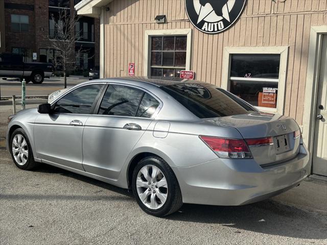
M186 13L201 32L216 34L239 18L246 0L185 0Z

